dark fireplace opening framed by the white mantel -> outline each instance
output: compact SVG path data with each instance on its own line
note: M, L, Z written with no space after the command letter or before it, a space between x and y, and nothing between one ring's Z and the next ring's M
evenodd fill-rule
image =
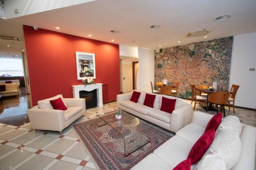
M79 98L86 101L86 109L97 107L97 89L92 91L79 91Z

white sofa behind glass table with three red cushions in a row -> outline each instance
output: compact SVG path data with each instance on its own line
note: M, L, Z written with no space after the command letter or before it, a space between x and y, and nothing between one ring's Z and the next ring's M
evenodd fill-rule
M139 92L141 92L141 94L138 103L130 101L132 92L118 94L118 107L124 111L134 114L135 116L145 119L148 122L151 122L157 126L175 133L190 123L192 108L190 104L184 103L182 99L173 96L147 92L148 94L156 95L154 108L151 108L143 105L146 92ZM175 110L172 114L160 110L162 104L162 96L165 98L177 99Z

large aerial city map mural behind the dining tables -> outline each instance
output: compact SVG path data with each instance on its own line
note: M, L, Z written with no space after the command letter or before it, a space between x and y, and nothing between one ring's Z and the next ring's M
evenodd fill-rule
M190 98L190 84L228 90L233 37L163 48L155 54L155 82L179 81L179 96Z

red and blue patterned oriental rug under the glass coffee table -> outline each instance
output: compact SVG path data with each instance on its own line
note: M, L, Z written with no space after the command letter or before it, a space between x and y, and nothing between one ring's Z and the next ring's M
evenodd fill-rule
M111 114L115 114L115 112ZM104 118L108 118L111 114L104 115ZM122 121L124 119L125 122L131 122L134 118L129 113L123 112L122 114ZM123 138L109 125L98 127L98 120L100 119L97 118L79 123L73 125L73 128L84 145L86 145L100 169L131 169L173 136L159 127L139 119L140 126L132 128L131 131L144 133L150 139L150 142L130 155L125 156Z

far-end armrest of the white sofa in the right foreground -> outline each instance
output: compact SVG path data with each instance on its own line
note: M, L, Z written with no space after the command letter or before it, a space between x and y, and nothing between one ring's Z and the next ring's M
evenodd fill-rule
M211 114L203 113L200 111L194 111L191 122L193 124L197 124L203 128L206 128L212 116L213 115Z

